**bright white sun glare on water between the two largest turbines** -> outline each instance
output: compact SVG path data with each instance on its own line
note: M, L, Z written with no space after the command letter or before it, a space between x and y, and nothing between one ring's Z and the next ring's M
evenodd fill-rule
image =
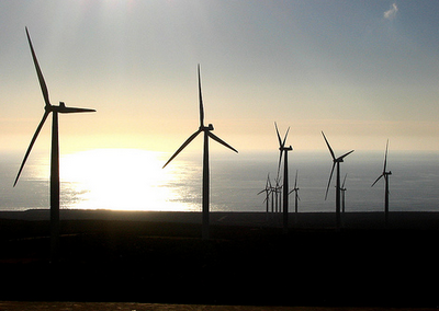
M178 174L162 170L160 152L97 149L60 162L63 207L117 210L187 210L167 186ZM61 196L63 196L61 195Z

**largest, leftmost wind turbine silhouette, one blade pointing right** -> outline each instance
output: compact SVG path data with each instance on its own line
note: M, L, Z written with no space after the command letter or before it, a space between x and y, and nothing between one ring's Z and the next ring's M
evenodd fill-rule
M50 104L48 97L48 90L46 82L44 81L43 73L40 69L38 60L36 59L36 55L34 48L32 46L31 36L29 35L27 27L26 36L29 41L29 45L31 47L32 58L34 60L36 74L38 77L40 87L43 92L43 97L45 102L44 106L44 115L42 120L40 122L34 136L32 137L31 143L27 148L27 151L24 156L23 162L21 163L19 173L16 174L15 182L13 186L16 185L20 174L24 168L24 164L27 160L29 154L31 153L32 147L35 143L38 134L48 117L52 113L52 152L50 152L50 258L52 261L57 261L58 257L58 245L59 245L59 139L58 139L58 114L71 114L71 113L90 113L95 112L94 110L88 108L74 108L66 107L64 102L59 102L59 106L55 106Z

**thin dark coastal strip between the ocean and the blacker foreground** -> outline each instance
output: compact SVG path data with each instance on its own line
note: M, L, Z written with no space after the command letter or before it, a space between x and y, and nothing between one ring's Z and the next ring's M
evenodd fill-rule
M330 229L335 227L335 212L290 212L291 229ZM391 211L389 229L438 230L437 211ZM49 219L48 209L29 209L24 211L0 211L0 219L44 221ZM123 211L123 210L81 210L61 209L60 220L111 220L169 223L201 223L201 211ZM281 226L282 214L211 211L211 226L271 227ZM346 229L385 229L384 212L345 212L341 214Z

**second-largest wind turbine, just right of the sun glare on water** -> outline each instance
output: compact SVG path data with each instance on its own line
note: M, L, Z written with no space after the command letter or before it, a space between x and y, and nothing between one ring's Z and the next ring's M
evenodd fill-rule
M204 107L203 107L203 97L201 93L201 78L200 78L200 65L198 66L199 73L199 101L200 101L200 127L199 129L192 134L181 147L173 153L173 156L166 162L166 165L169 164L200 133L204 133L204 151L203 151L203 201L202 201L202 210L203 210L203 226L202 226L202 239L209 239L209 191L210 191L210 181L209 181L209 138L216 140L221 145L232 149L235 152L238 152L235 148L229 146L227 142L222 140L219 137L212 133L213 125L209 124L209 126L204 125Z

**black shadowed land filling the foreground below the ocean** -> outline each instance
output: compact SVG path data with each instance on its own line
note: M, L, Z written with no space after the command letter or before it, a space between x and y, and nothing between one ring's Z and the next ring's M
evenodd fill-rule
M36 214L0 212L0 300L439 306L437 214L392 229L348 217L340 231L331 214L303 216L289 234L264 215L217 214L202 241L198 214L64 211L57 264Z

